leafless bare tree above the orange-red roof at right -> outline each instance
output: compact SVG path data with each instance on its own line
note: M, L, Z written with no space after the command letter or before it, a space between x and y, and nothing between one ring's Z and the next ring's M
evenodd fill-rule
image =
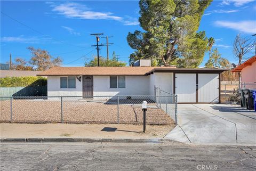
M252 36L242 37L240 34L236 35L234 40L234 54L238 59L238 64L241 64L245 55L251 52L255 43L255 39Z

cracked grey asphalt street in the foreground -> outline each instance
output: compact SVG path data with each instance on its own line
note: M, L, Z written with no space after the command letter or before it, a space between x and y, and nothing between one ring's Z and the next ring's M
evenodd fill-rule
M1 143L1 170L256 170L256 146Z

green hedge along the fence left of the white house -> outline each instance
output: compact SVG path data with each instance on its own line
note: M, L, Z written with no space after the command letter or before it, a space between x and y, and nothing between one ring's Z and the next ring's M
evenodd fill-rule
M26 87L26 86L46 86L47 78L29 77L6 77L0 78L0 87Z

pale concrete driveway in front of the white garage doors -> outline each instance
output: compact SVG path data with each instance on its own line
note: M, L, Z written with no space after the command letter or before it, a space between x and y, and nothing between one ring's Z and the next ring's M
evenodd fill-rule
M256 144L256 112L239 105L178 104L167 139L195 144Z

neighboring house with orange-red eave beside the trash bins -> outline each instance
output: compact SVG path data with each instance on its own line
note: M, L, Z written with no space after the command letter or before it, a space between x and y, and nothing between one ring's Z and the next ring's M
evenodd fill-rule
M256 55L237 66L231 72L241 72L241 83L256 83ZM248 85L245 88L256 88L256 84Z

